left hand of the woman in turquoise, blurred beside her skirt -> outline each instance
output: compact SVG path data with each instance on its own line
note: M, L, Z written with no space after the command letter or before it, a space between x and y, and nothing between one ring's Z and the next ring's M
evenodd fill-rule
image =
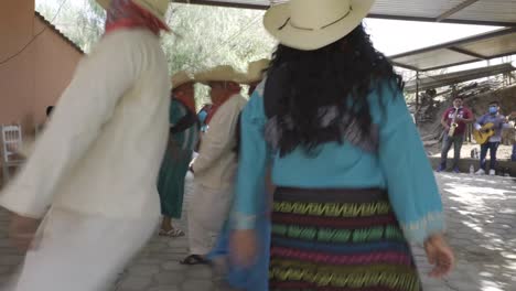
M232 260L241 267L251 266L256 260L257 244L256 231L254 229L233 231L229 245Z

